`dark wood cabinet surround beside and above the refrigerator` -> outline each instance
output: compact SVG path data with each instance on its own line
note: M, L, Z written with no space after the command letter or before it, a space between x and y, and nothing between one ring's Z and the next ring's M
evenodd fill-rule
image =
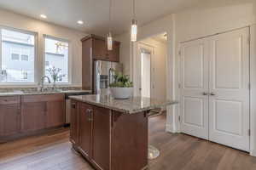
M82 40L82 88L94 90L94 61L119 62L120 42L113 41L113 49L108 50L106 38L89 35Z

